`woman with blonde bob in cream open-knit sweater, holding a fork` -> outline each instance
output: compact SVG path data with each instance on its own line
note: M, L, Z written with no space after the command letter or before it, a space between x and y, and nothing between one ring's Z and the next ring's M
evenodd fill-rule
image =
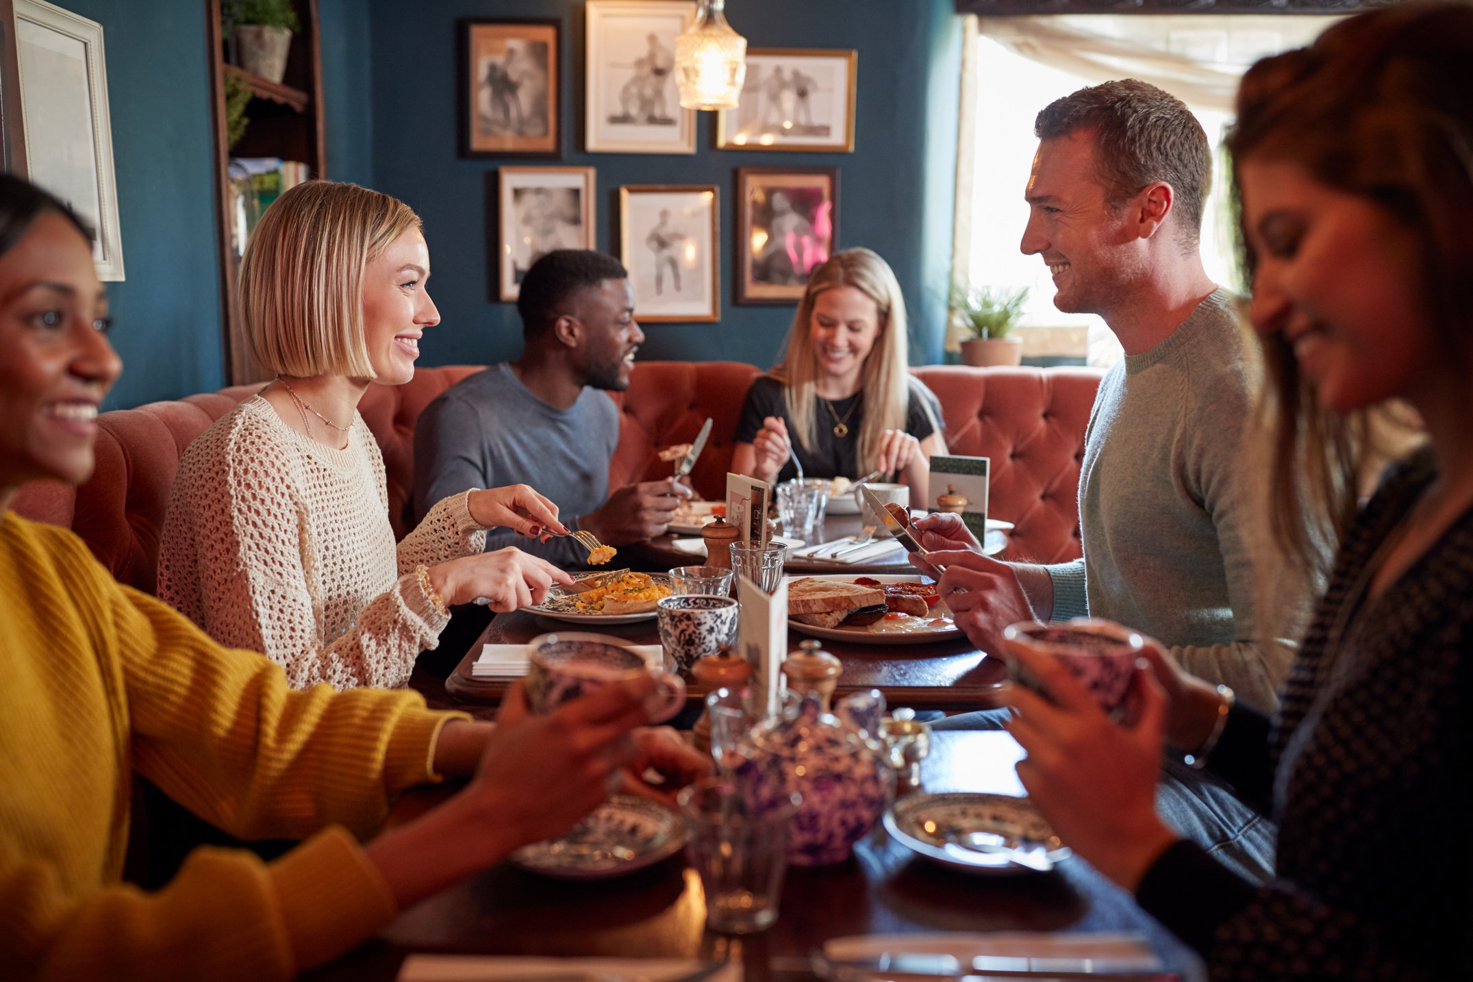
M262 215L240 268L256 358L277 372L196 439L174 478L159 598L295 688L402 686L448 608L538 604L566 573L486 529L566 533L526 486L436 504L395 545L383 456L358 415L370 381L404 384L439 312L429 247L402 202L308 181Z

